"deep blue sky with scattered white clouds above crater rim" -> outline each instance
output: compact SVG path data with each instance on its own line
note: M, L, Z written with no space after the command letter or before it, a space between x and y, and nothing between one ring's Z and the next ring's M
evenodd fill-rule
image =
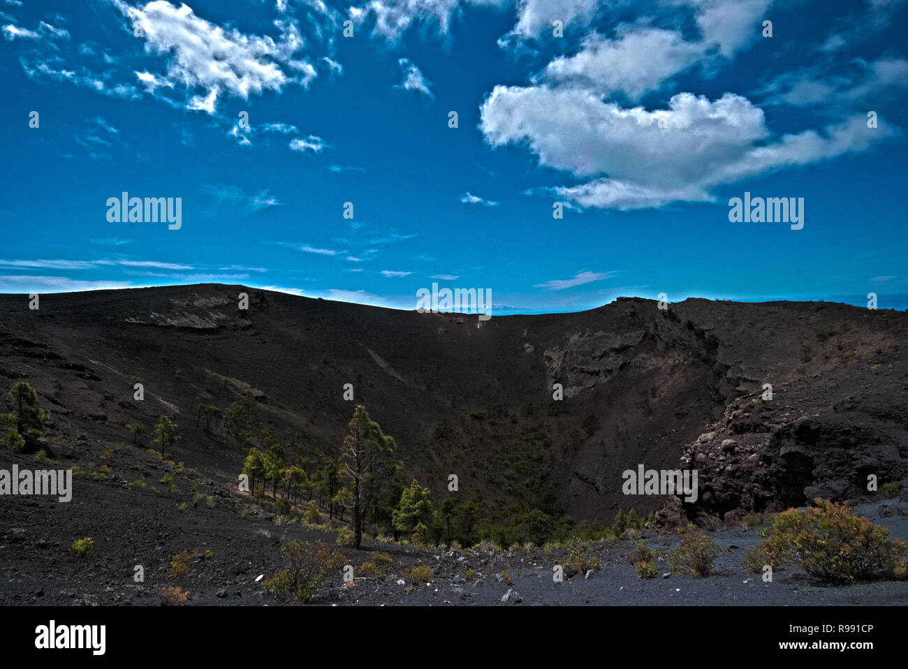
M904 309L906 30L908 0L0 0L0 291ZM121 192L180 229L108 221ZM729 221L745 192L804 228Z

